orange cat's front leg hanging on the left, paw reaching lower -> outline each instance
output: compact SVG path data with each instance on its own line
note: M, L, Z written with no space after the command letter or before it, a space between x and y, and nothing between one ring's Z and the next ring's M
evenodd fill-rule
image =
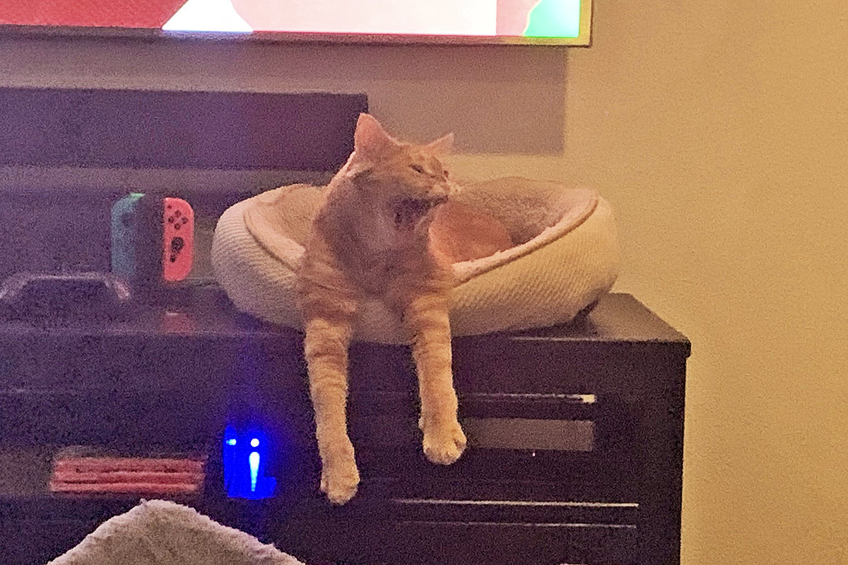
M345 410L350 327L343 313L305 319L304 353L321 455L321 491L335 504L353 498L360 484Z

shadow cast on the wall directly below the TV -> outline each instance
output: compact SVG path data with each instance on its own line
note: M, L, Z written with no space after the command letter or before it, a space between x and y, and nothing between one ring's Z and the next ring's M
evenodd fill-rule
M0 40L0 86L365 92L388 130L464 153L561 154L565 67L542 46Z

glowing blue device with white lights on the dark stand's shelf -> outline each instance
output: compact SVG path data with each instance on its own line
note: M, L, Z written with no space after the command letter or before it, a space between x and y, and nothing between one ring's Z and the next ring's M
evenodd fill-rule
M227 496L259 500L274 495L276 479L265 476L271 443L261 429L228 425L222 447Z

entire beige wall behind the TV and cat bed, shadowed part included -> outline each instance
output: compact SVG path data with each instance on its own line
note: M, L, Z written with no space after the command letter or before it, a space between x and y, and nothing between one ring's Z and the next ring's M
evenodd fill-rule
M694 344L683 562L848 563L848 7L798 5L595 0L568 51L6 41L0 84L366 91L460 174L598 188L617 289Z

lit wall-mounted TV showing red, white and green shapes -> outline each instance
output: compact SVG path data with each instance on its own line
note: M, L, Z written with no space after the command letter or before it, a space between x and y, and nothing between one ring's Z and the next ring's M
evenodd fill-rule
M2 0L20 33L589 45L591 0Z

